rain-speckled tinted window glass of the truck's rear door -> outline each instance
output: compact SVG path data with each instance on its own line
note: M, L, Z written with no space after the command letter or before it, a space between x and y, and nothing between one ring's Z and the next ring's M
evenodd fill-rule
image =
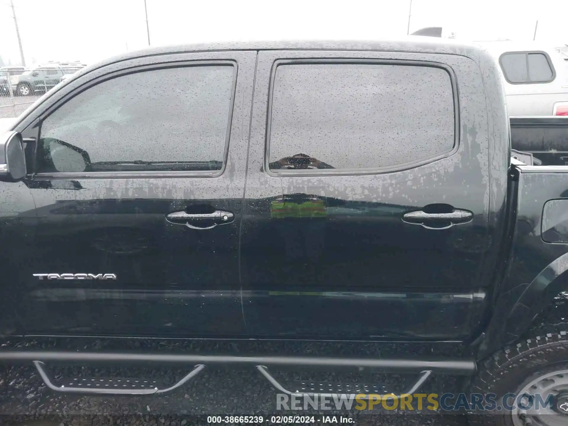
M278 66L270 169L367 169L435 157L454 146L449 74L428 66Z

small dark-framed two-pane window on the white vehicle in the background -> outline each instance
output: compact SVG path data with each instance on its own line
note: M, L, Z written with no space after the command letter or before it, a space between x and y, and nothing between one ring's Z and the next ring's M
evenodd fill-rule
M506 52L500 56L499 63L511 84L548 83L556 76L546 52Z

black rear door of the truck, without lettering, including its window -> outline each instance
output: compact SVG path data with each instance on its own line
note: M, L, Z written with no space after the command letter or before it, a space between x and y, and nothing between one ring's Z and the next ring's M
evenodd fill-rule
M463 56L259 53L241 235L251 333L473 330L489 241L482 86Z

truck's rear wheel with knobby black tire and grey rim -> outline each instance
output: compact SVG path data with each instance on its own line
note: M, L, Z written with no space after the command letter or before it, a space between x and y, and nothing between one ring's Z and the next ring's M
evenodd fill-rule
M511 411L471 414L470 425L560 426L568 424L568 324L507 346L487 359L471 385L472 393L507 399ZM537 402L540 407L537 407ZM542 404L542 402L545 402ZM543 407L544 405L544 407Z

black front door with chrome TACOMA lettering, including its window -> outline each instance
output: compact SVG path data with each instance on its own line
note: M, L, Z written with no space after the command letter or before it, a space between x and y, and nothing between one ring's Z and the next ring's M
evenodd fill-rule
M237 262L256 52L85 74L30 123L28 334L244 333Z

